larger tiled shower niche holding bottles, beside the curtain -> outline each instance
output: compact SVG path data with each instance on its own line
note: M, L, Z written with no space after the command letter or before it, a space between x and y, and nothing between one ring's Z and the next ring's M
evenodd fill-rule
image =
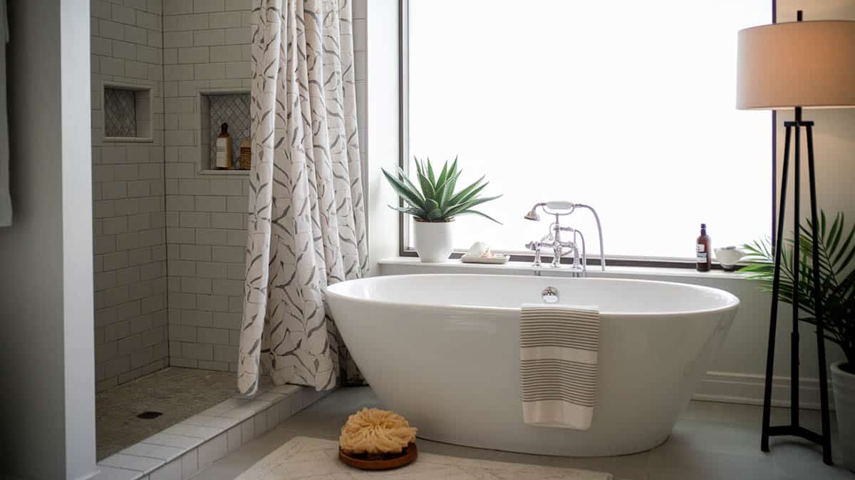
M216 139L221 125L227 123L232 137L232 169L240 170L240 142L250 138L250 92L200 93L199 112L201 169L216 169Z

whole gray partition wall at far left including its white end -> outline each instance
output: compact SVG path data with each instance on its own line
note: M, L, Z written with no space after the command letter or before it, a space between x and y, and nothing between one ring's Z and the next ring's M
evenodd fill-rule
M9 7L14 223L0 228L0 471L85 478L95 467L90 113L81 94L88 1Z

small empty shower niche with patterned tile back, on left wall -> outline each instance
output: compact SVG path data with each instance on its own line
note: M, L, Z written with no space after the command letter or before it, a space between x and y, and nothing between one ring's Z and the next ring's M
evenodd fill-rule
M104 141L152 141L150 87L105 84L103 109Z

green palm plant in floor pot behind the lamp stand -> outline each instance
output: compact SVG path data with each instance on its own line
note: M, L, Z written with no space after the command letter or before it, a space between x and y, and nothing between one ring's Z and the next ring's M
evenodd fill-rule
M817 324L817 308L813 299L813 267L811 252L811 223L799 232L802 255L799 285L793 285L793 240L781 252L781 301L793 304L799 299L799 310L806 315L802 321ZM855 226L846 227L842 213L834 217L828 228L825 213L820 216L819 281L822 295L822 320L825 339L843 350L846 360L831 364L834 406L840 432L843 463L855 471ZM775 275L775 257L769 240L755 241L745 246L746 260L752 262L740 270L760 282L761 289L771 291Z

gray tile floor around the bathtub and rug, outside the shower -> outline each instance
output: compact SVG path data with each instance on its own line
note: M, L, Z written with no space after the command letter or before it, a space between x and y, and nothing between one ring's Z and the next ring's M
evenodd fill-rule
M335 440L347 416L363 406L381 406L371 388L339 389L199 472L193 480L233 480L293 436ZM787 409L773 409L773 423L786 421L788 415ZM818 412L805 411L803 417L811 428L819 421ZM545 457L426 440L419 440L419 449L458 457L608 471L629 480L855 480L855 474L840 466L823 465L817 449L798 440L775 438L771 453L760 452L760 418L758 406L692 402L661 447L621 457Z

